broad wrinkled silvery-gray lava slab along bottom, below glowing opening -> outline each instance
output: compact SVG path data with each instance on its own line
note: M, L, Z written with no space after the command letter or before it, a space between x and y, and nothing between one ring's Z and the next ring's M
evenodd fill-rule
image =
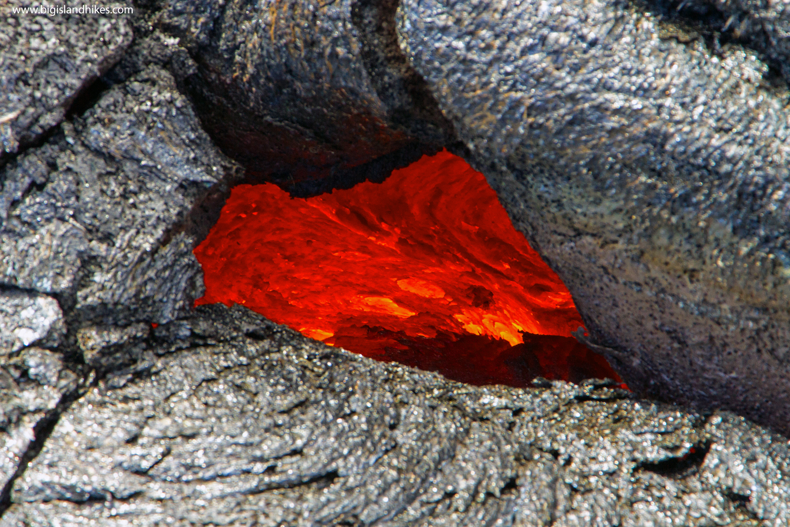
M465 386L212 306L63 413L0 525L779 527L788 481L731 414Z

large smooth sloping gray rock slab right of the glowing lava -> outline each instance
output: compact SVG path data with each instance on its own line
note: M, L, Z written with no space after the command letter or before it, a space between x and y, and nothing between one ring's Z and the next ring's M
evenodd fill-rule
M790 434L787 87L641 9L406 0L398 31L629 386Z

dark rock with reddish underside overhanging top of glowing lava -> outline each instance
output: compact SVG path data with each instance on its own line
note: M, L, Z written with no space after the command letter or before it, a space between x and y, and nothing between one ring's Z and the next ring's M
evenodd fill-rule
M383 179L419 158L418 139L452 139L394 31L376 31L395 5L177 0L156 24L194 58L183 84L216 144L251 178L310 194Z

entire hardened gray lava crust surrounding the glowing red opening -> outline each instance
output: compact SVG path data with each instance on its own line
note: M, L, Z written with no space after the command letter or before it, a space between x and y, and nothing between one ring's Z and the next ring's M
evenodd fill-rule
M33 98L0 112L0 525L788 525L787 439L706 409L790 422L786 14L716 2L759 20L758 56L644 14L667 3L402 2L398 36L389 0L139 2L39 22L85 45L29 64L0 32L5 93ZM241 179L217 144L307 194L456 134L591 345L698 413L187 314Z

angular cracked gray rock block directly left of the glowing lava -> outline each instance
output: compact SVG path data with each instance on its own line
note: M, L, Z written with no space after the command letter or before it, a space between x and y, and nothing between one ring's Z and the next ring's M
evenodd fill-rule
M158 66L62 130L0 174L2 284L62 295L77 321L126 326L189 311L203 287L192 249L237 166Z

